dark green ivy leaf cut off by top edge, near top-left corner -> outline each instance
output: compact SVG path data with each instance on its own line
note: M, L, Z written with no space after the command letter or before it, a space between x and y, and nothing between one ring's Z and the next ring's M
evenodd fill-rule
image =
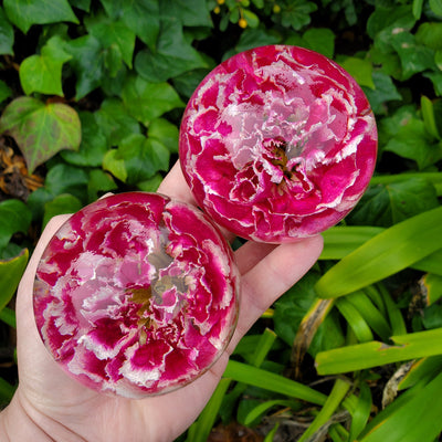
M9 20L24 33L32 24L78 23L67 0L4 0L3 7Z

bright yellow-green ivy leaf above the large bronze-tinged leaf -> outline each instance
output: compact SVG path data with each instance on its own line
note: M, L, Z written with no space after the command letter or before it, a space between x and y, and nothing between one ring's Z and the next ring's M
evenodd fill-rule
M33 92L63 96L62 67L71 60L62 49L62 40L53 36L42 48L40 55L31 55L20 65L20 82L27 95Z

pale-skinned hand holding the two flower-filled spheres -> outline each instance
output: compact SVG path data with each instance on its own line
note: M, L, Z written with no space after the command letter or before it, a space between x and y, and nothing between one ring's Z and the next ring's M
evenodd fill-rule
M158 191L194 203L178 165ZM311 269L323 248L319 235L293 244L248 242L241 246L235 252L242 274L240 317L228 350L189 386L164 396L130 400L98 393L71 379L51 359L36 330L32 308L36 266L45 245L67 218L59 215L49 222L18 290L20 382L11 403L0 413L2 441L173 441L198 418L242 336Z

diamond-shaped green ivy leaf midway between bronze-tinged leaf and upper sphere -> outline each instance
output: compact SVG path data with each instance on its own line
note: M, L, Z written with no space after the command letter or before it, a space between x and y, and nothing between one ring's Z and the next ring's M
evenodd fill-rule
M123 102L117 98L105 99L94 115L106 136L107 147L118 146L129 135L141 133L138 122L128 114Z

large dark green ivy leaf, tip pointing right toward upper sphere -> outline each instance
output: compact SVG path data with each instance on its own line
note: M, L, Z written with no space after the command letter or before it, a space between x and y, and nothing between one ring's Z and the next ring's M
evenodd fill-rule
M185 39L182 29L173 20L164 22L156 52L146 49L138 52L135 59L137 73L154 83L207 66L206 60Z

